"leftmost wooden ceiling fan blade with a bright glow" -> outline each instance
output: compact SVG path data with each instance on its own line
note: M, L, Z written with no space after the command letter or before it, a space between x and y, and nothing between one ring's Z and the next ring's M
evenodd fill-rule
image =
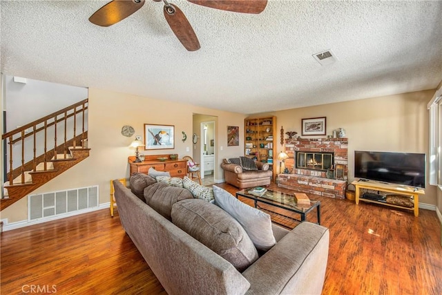
M142 8L144 0L113 0L95 11L89 21L97 26L108 27L126 19Z

